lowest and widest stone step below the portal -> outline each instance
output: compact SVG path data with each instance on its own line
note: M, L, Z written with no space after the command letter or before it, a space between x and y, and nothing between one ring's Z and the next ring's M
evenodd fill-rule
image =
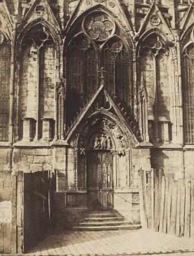
M100 230L135 230L140 229L141 225L117 225L117 226L75 226L73 230L79 231L100 231Z

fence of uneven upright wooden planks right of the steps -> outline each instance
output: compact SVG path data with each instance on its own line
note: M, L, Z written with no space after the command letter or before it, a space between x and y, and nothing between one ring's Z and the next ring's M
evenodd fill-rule
M139 170L139 202L143 227L194 238L194 179L166 177L163 170Z

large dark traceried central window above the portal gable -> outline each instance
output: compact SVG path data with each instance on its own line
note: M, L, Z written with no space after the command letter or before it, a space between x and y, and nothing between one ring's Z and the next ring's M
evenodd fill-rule
M104 87L113 99L130 105L132 94L132 55L123 34L112 18L91 12L74 29L68 43L66 121L88 102L100 86L104 68ZM72 39L73 38L73 39ZM71 104L76 103L76 104Z

